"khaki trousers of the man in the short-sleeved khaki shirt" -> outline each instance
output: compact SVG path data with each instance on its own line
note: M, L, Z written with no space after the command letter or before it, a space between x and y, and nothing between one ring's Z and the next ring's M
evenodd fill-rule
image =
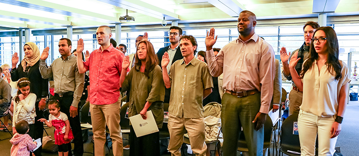
M180 118L169 115L168 130L170 132L170 142L168 151L171 155L181 156L181 146L185 128L188 132L192 151L195 155L206 155L207 145L205 143L205 121L203 118Z

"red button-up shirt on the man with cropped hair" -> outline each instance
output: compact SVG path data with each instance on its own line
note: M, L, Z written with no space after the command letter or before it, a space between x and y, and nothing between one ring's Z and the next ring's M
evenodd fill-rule
M102 51L101 47L94 50L84 62L84 67L90 71L91 104L112 104L118 100L119 77L124 57L124 53L113 48L111 44L107 50Z

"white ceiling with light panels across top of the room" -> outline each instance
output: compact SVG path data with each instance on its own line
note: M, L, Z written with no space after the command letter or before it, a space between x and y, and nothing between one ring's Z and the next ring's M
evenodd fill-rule
M123 21L123 25L143 25L159 24L164 17L169 21L236 20L242 10L254 12L258 19L323 11L354 15L359 14L359 0L0 0L0 27L109 25L121 23L118 18L126 15L126 9L135 21Z

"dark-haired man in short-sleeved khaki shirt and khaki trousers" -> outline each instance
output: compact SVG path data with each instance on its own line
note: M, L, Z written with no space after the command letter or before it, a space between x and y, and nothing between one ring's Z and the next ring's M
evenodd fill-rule
M197 41L191 35L182 36L179 42L183 59L175 61L167 71L169 55L162 57L162 74L166 88L171 86L168 130L170 142L168 150L172 155L181 155L181 145L185 129L188 132L191 148L196 155L206 155L205 122L202 100L213 87L212 76L207 64L194 57Z

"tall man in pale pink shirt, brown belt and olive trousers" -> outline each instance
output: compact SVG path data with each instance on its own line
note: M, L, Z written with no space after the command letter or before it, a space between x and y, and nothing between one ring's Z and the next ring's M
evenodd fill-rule
M273 48L254 33L255 14L242 11L237 29L240 36L222 48L215 57L217 40L212 28L206 35L207 61L212 76L223 73L222 98L223 154L236 155L241 127L249 155L263 155L266 115L273 95Z

